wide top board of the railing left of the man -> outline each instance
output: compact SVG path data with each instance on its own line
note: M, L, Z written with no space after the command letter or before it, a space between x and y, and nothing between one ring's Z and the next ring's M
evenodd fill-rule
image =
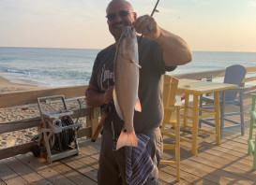
M38 102L38 97L63 94L65 98L84 96L87 85L77 85L61 88L48 88L23 92L11 92L0 94L0 108L14 107L20 105L34 104Z

